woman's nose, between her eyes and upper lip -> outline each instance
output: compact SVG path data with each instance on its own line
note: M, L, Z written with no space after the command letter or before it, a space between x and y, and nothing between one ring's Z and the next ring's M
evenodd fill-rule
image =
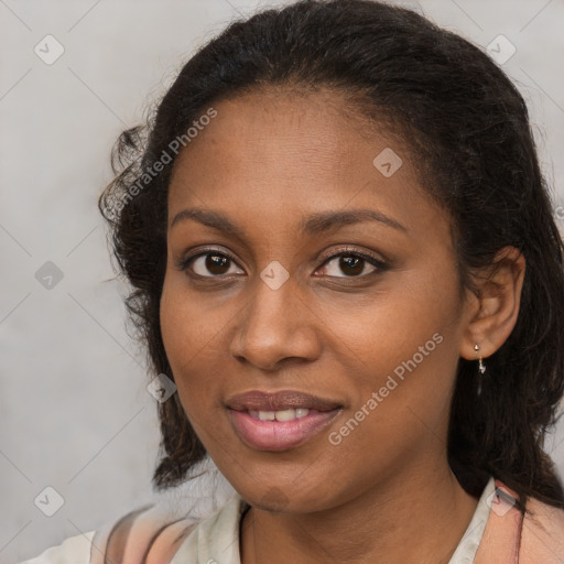
M322 349L321 319L292 275L275 290L258 279L250 291L250 301L237 315L231 355L264 371L275 371L290 359L315 360Z

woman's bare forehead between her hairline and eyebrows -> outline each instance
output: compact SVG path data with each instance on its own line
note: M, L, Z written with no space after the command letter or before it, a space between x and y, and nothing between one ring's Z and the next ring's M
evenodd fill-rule
M435 207L405 143L347 104L323 90L254 93L214 104L217 116L175 162L170 216L187 206L219 207L280 226L314 209L368 206L403 216L398 219L405 225L416 219L409 217L414 208L421 217L423 207ZM398 158L393 167L401 160L392 175L379 167L382 154L384 161Z

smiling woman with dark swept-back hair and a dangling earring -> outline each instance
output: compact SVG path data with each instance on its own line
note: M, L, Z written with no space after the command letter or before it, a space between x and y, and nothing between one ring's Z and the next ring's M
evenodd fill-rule
M209 455L237 495L30 562L564 562L542 449L563 243L487 55L383 3L267 10L115 156L100 209L160 375L154 484Z

